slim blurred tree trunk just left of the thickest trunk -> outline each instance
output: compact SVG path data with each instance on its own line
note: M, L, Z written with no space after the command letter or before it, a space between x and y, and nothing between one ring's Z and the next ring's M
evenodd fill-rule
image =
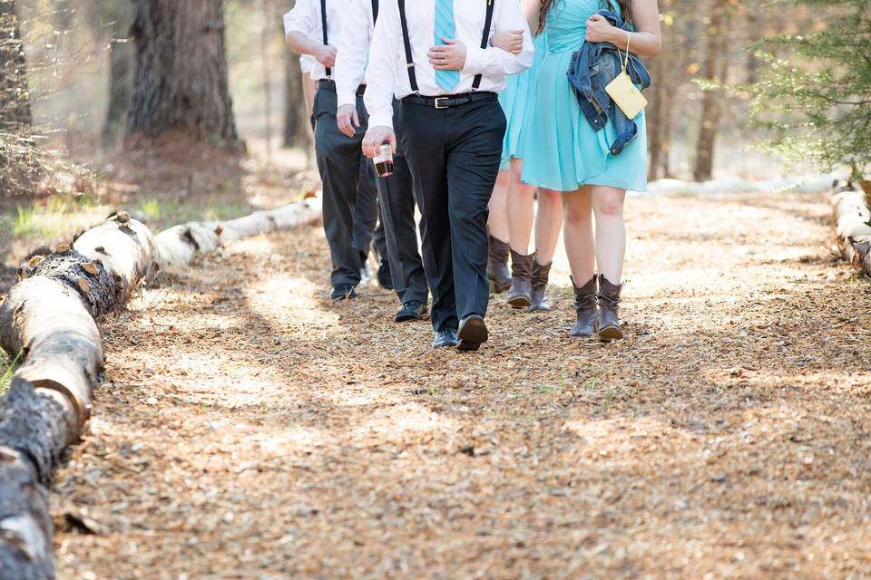
M121 139L133 88L133 45L130 42L131 5L129 0L108 2L103 23L112 25L109 39L109 109L103 121L103 149L112 149Z

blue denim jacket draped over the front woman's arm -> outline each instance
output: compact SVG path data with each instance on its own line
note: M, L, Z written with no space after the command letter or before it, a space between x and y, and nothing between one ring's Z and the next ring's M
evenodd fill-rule
M631 25L624 22L618 14L610 10L601 10L599 14L614 26L631 32ZM641 87L641 91L651 86L651 76L635 54L630 53L626 70L632 82ZM581 49L572 54L572 64L567 73L583 116L592 128L602 131L609 119L614 124L617 139L611 146L612 155L620 155L623 148L638 136L638 125L634 120L627 119L620 107L605 92L608 83L617 78L621 71L621 57L612 43L583 43Z

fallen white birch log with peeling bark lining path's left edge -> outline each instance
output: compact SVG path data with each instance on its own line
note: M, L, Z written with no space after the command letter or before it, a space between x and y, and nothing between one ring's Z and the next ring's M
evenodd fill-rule
M0 577L55 577L46 488L61 454L91 416L102 382L96 319L121 308L159 269L187 266L222 241L314 223L307 200L220 223L190 223L158 236L127 212L35 256L0 304L0 346L23 353L0 400Z

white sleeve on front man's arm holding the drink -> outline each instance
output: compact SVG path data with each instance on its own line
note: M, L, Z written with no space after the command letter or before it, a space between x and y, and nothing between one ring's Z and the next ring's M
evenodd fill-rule
M393 127L393 97L396 92L396 63L402 44L402 28L396 0L383 2L378 11L369 65L366 69L366 109L369 127Z

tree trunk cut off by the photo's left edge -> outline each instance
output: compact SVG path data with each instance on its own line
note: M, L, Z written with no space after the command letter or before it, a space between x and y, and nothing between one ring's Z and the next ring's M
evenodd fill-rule
M30 94L15 0L0 0L0 132L29 133Z

